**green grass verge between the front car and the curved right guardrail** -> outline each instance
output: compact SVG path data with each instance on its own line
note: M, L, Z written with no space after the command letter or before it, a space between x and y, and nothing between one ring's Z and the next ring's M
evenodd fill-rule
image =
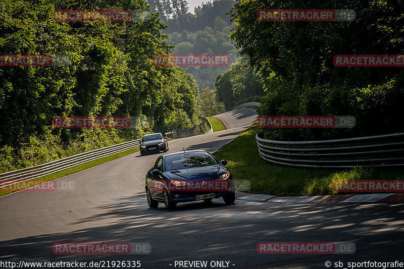
M404 169L358 168L347 171L302 169L272 165L258 154L256 124L241 133L214 155L228 161L234 180L249 180L250 193L276 196L351 194L336 192L333 182L347 180L404 180ZM237 185L237 184L235 184ZM363 192L362 192L363 194Z

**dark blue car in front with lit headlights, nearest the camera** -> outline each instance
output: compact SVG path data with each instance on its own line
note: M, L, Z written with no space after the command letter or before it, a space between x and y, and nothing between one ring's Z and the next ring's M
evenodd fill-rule
M205 150L180 151L157 158L146 174L146 196L150 208L159 202L169 210L177 203L223 197L226 204L235 200L232 175L225 167L226 160L219 162Z

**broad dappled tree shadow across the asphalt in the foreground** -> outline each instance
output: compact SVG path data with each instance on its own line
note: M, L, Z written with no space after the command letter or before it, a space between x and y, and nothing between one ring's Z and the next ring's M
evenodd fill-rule
M214 259L226 253L228 259L260 257L269 262L274 255L257 253L257 243L291 241L354 241L358 255L369 249L390 251L386 246L400 246L402 206L396 204L265 204L240 202L178 204L168 211L147 206L143 193L120 197L97 207L102 213L72 221L73 232L29 236L0 242L0 258L31 260L134 260L142 267L167 267L167 262L181 259ZM244 206L243 206L244 205ZM107 224L83 228L99 220ZM240 221L241 220L241 221ZM46 225L44 223L43 225ZM55 255L57 242L149 242L148 255ZM380 248L380 250L378 249ZM220 251L219 251L220 250ZM366 252L366 253L365 253ZM216 256L215 256L216 255ZM295 262L301 262L296 255ZM350 257L354 258L355 255ZM290 257L285 256L285 261ZM277 257L277 262L283 260ZM156 263L159 262L159 263ZM167 264L166 264L167 263ZM157 265L159 264L159 265Z

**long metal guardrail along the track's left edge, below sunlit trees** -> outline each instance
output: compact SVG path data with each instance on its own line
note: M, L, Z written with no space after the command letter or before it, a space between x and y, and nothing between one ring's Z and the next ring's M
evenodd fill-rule
M54 160L53 162L49 162L46 164L0 174L0 188L8 187L15 183L36 179L42 176L51 175L65 169L90 162L94 159L99 159L112 154L120 153L131 148L138 147L140 145L140 141L141 139L136 139L129 142L124 142Z

